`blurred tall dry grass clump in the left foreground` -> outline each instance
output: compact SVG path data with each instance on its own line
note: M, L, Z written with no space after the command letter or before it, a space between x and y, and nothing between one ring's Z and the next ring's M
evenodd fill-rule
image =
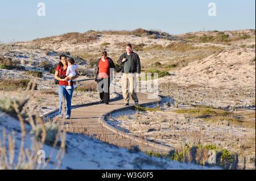
M19 120L20 139L15 138L18 137L15 134L18 135L19 131L7 133L6 128L3 128L3 131L0 132L2 134L2 138L0 138L0 169L46 169L50 161L55 169L60 167L65 153L65 131L55 123L44 124L43 119L34 112L33 108L30 111L24 111L25 105L34 98L35 86L34 79L28 83L28 88L20 99L1 98L6 100L0 101L0 110ZM15 142L20 142L19 149L16 148ZM27 147L28 142L30 148ZM44 159L39 151L42 151L46 145L51 146L52 150ZM55 155L54 158L53 155Z

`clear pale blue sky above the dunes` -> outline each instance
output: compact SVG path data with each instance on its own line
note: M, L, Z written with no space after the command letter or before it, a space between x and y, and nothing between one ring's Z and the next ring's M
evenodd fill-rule
M38 16L38 3L46 16ZM208 16L208 3L217 16ZM0 41L88 30L156 29L179 34L255 29L255 0L5 0L0 1Z

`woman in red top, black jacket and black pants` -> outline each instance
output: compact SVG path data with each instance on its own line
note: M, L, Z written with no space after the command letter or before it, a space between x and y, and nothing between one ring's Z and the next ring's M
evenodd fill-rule
M104 50L101 53L101 58L97 64L96 82L98 83L97 89L100 92L100 104L109 104L109 86L110 78L112 76L113 69L115 68L114 62L111 58L107 57L108 53Z

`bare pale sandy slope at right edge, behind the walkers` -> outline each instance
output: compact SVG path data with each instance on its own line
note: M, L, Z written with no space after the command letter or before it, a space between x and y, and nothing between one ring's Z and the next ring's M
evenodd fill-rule
M182 85L208 85L209 87L254 87L255 49L223 50L203 60L191 62L174 71L175 75L162 78Z

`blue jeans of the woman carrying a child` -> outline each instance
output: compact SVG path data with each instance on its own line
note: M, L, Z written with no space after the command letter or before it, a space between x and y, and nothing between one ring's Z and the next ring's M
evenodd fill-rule
M62 115L62 109L63 109L63 102L66 102L66 116L71 117L71 100L72 100L72 95L74 91L74 87L72 86L72 89L66 90L67 86L58 86L58 92L59 92L59 115Z

